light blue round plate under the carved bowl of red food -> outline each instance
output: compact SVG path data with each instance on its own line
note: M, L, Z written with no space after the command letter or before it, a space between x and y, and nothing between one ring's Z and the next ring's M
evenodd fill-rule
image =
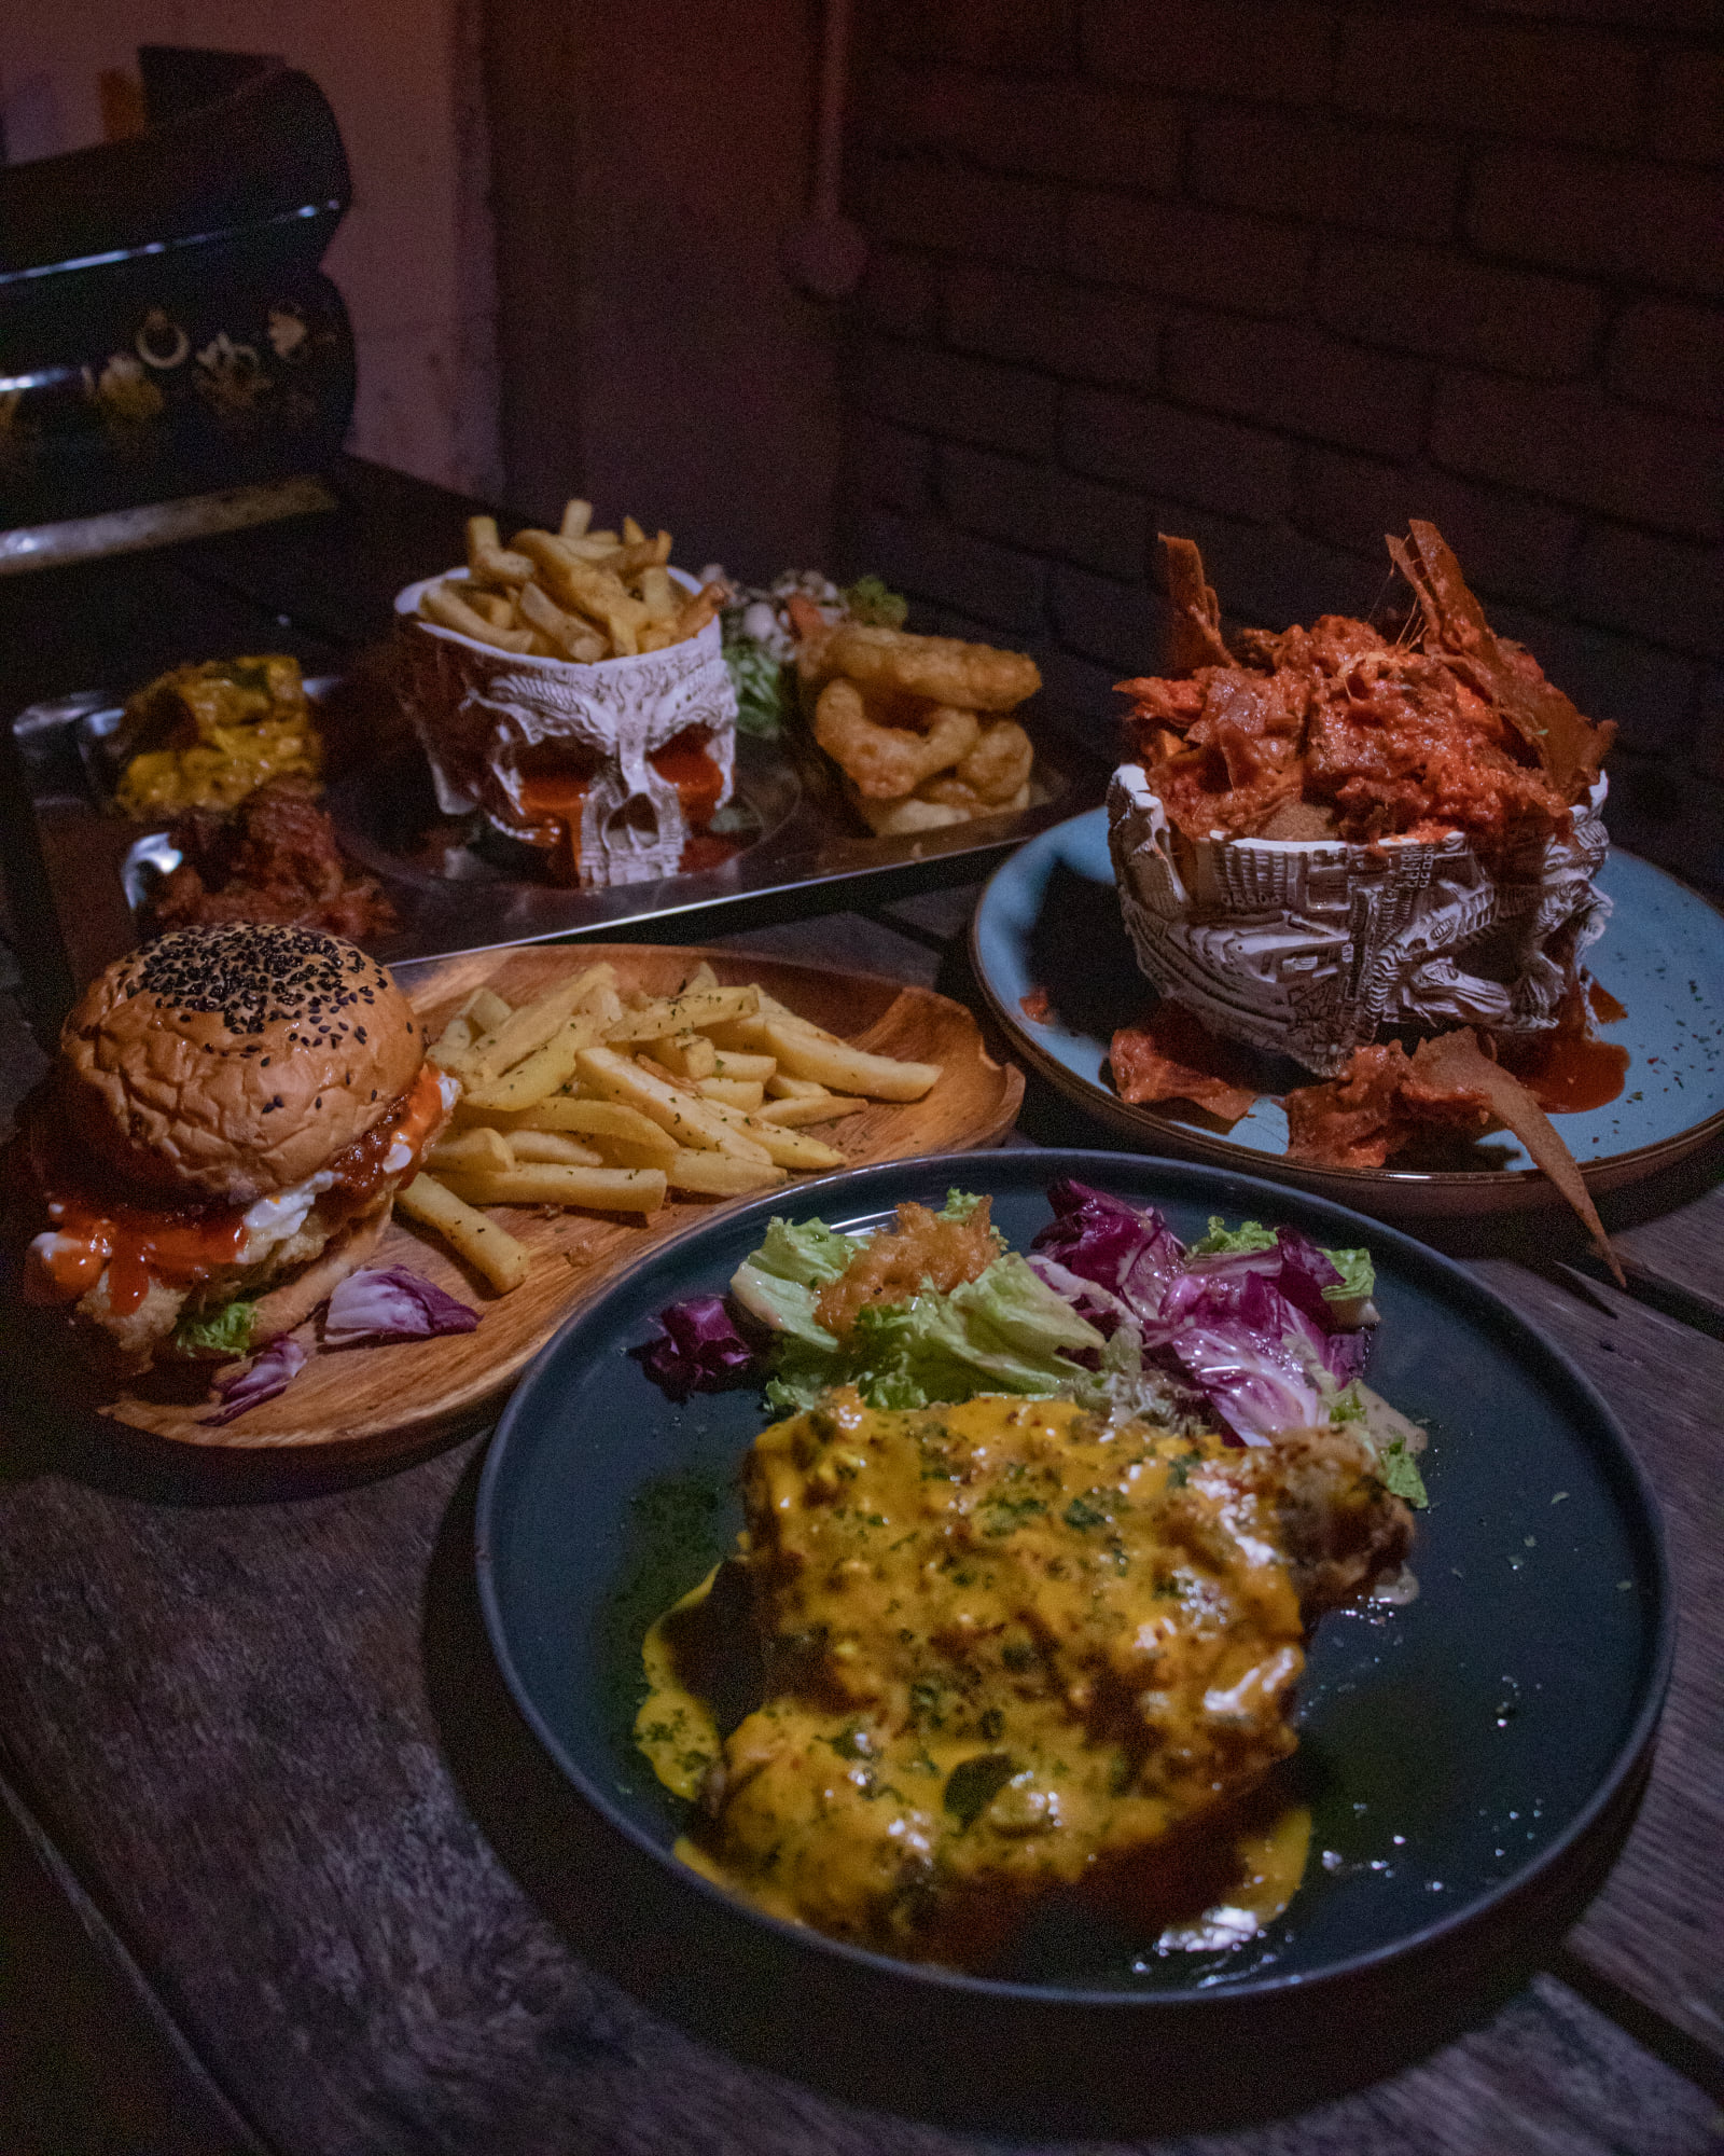
M1562 1115L1556 1128L1593 1190L1614 1190L1724 1130L1724 914L1633 854L1612 854L1599 884L1616 910L1588 964L1627 1009L1603 1039L1627 1048L1629 1067L1616 1100ZM970 944L987 1000L1026 1061L1146 1149L1274 1175L1375 1214L1560 1203L1511 1132L1470 1147L1461 1166L1310 1169L1284 1158L1287 1115L1274 1095L1231 1130L1185 1102L1127 1106L1108 1078L1108 1044L1155 992L1121 923L1106 808L1019 847L983 893ZM1047 992L1045 1020L1024 1011L1034 990ZM1291 1063L1287 1072L1291 1084L1310 1082Z

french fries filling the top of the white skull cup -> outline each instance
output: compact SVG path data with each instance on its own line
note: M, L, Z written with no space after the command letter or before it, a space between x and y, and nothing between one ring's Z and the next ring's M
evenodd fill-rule
M724 602L722 584L687 593L670 576L670 533L649 539L634 517L595 533L593 505L569 502L562 528L504 545L496 517L468 517L468 573L431 584L427 621L500 651L547 660L636 658L696 636Z

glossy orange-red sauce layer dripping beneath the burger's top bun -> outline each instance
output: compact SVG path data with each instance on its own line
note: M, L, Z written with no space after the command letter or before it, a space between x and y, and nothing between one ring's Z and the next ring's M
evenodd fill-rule
M41 1130L30 1156L52 1229L30 1242L24 1294L30 1302L75 1302L106 1270L116 1317L138 1309L149 1283L194 1289L224 1266L254 1266L304 1227L319 1199L336 1218L362 1212L388 1177L414 1166L425 1141L455 1104L457 1080L425 1065L397 1115L347 1147L328 1169L254 1205L149 1207L95 1197L75 1186Z

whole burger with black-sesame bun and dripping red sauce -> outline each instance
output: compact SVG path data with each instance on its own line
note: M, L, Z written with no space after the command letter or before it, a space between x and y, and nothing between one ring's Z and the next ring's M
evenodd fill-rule
M123 1371L291 1332L388 1227L455 1080L386 968L235 921L112 964L19 1115L24 1294Z

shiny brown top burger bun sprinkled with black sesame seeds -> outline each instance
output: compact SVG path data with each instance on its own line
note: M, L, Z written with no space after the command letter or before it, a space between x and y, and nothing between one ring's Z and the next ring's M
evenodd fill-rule
M422 1061L407 998L356 944L231 921L91 983L60 1031L60 1102L140 1192L250 1205L362 1138Z

